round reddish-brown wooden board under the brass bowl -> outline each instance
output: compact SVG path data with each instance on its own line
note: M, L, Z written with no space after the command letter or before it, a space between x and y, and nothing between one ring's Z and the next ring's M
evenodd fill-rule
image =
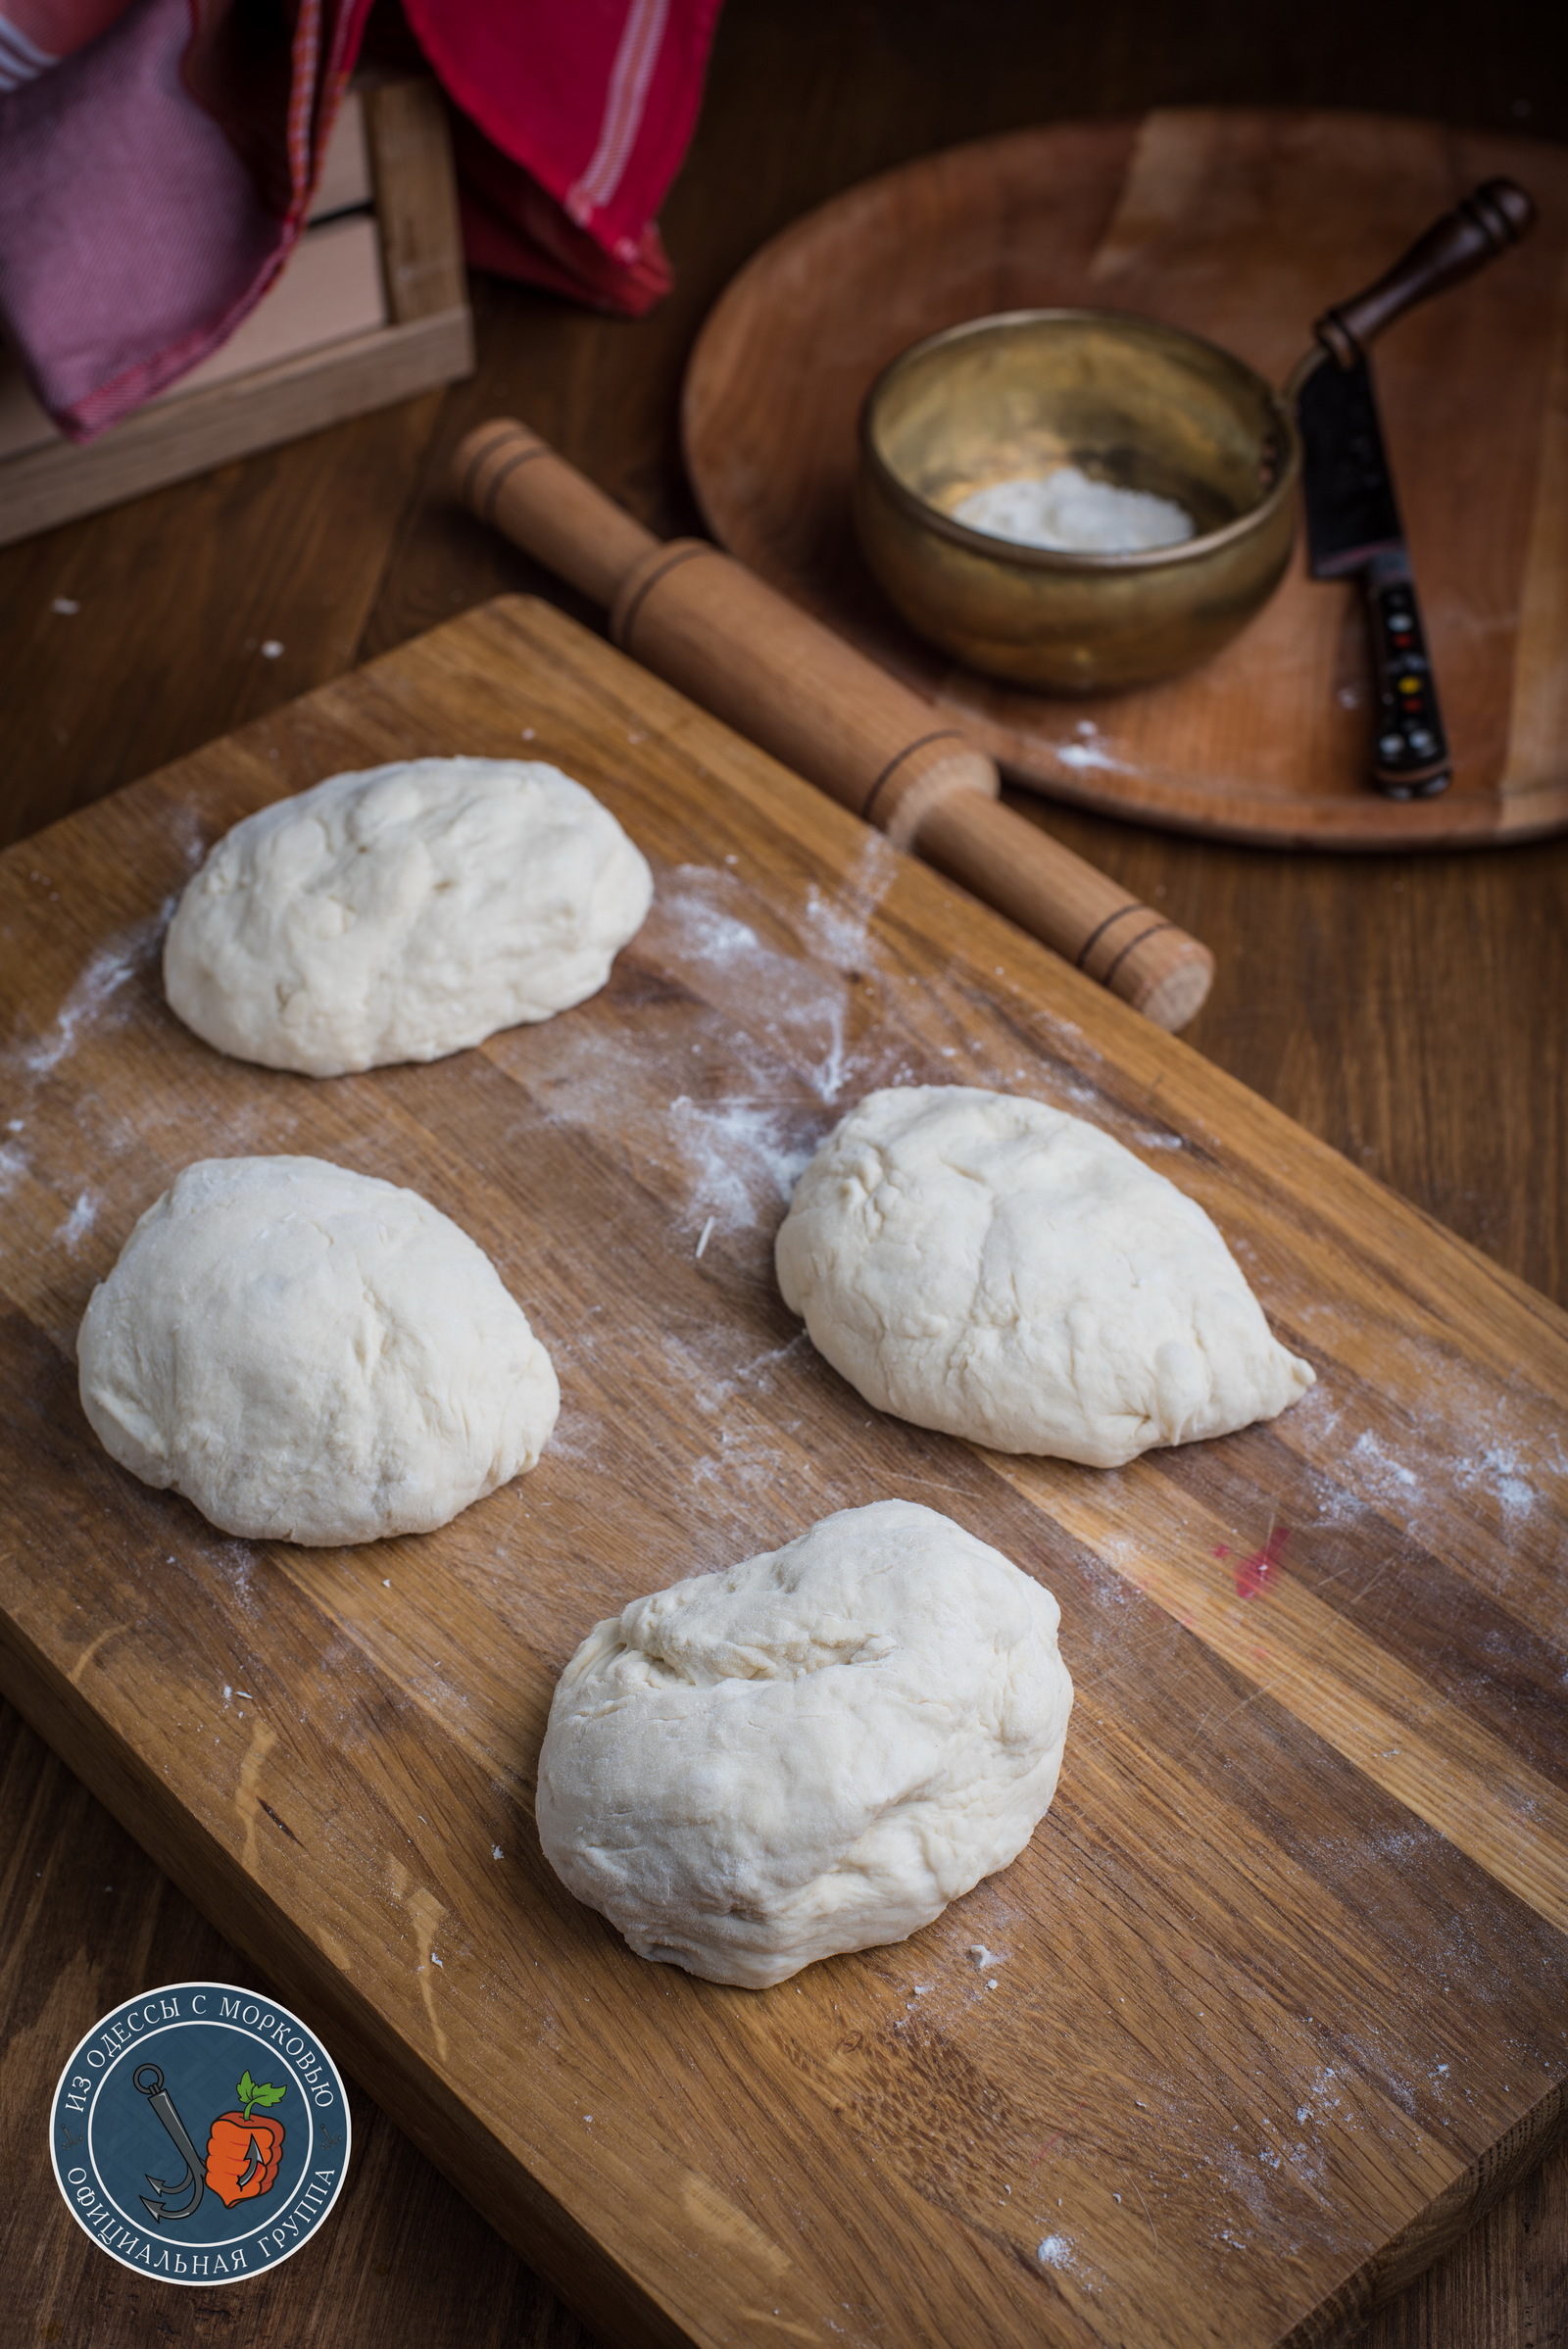
M850 526L876 373L991 310L1138 310L1284 383L1312 319L1476 181L1533 235L1394 327L1378 395L1415 559L1453 787L1366 785L1359 587L1298 547L1218 660L1145 693L1052 700L958 669L880 597ZM739 272L685 381L714 536L960 719L1016 782L1263 846L1437 848L1568 824L1568 153L1347 113L1160 110L951 148L850 188Z

